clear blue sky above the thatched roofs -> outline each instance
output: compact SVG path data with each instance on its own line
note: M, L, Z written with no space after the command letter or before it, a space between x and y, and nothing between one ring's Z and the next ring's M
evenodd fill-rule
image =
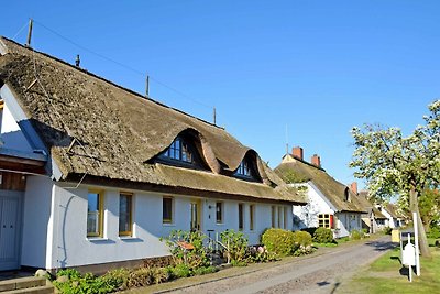
M440 1L15 0L1 12L0 35L24 43L33 18L38 51L80 54L139 92L148 73L154 99L209 121L216 107L272 167L287 127L289 148L346 184L353 126L409 133L440 97Z

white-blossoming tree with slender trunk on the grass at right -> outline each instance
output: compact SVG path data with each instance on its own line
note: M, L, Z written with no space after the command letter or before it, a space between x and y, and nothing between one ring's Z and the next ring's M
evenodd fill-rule
M420 252L430 255L419 211L419 196L425 189L439 186L440 174L440 100L429 105L425 124L403 137L398 128L364 124L354 127L355 150L351 167L364 178L373 195L382 198L408 197L410 211L417 213Z

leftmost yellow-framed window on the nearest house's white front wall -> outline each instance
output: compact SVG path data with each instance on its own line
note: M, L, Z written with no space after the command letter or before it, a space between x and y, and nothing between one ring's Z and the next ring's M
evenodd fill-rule
M87 202L87 237L102 237L103 196L99 192L89 192Z

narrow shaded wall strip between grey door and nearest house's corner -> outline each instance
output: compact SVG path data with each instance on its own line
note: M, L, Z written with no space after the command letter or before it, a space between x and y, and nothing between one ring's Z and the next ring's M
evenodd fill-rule
M51 178L28 176L23 202L21 265L45 268L52 202Z

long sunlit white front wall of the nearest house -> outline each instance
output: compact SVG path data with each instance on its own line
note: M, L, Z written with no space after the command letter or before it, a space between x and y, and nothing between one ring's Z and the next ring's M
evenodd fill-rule
M97 187L94 187L97 188ZM196 197L174 197L173 224L162 224L163 195L133 193L133 238L119 237L119 190L105 188L103 238L87 238L88 187L78 189L55 185L52 205L54 236L48 246L46 268L66 268L150 257L167 255L168 249L158 238L167 237L173 229L189 230L190 203ZM223 224L216 224L216 200L201 198L201 229L221 232L239 229L239 202L223 202ZM211 205L211 209L209 209ZM271 227L271 205L255 203L254 230L250 230L250 203L244 203L244 229L251 244L260 243L261 233ZM284 205L292 219L290 206ZM289 224L289 222L288 222ZM292 228L292 225L289 225ZM215 238L215 233L212 235Z

